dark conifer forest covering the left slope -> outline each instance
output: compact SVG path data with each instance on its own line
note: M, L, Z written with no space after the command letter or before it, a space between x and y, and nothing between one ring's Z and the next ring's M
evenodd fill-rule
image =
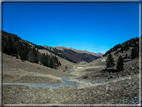
M28 60L30 62L40 63L54 69L61 66L61 63L56 56L42 54L35 45L31 46L17 35L5 31L2 31L2 51L8 55L20 58L22 61Z

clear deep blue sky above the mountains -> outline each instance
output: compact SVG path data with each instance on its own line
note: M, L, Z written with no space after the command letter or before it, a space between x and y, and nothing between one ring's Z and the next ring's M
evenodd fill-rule
M139 3L3 3L2 30L37 45L105 53L139 37Z

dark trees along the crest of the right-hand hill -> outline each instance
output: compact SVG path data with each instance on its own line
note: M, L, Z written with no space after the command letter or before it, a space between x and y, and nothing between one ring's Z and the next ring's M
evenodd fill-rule
M108 50L103 56L107 56L107 54L110 54L111 52L116 51L118 48L120 48L120 50L117 50L115 54L121 52L123 53L123 51L127 51L130 49L130 47L133 47L133 51L136 51L137 53L139 53L139 38L132 38L131 40L127 40L126 42L122 43L122 44L118 44L116 46L114 46L113 48L111 48L110 50Z

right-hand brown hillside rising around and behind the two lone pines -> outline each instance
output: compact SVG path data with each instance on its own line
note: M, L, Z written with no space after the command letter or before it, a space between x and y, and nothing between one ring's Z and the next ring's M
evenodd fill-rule
M133 52L132 52L133 51ZM132 53L135 53L134 55ZM106 68L106 60L108 55L111 54L115 66L112 69ZM117 71L117 60L119 56L122 56L124 63L124 70ZM97 79L97 78L105 78L105 73L114 72L113 75L107 75L106 78L110 76L114 76L116 78L117 74L121 75L120 77L127 76L130 74L138 74L139 71L139 38L132 38L127 40L122 44L118 44L108 50L101 58L98 58L90 63L86 64L78 64L76 70L74 70L71 74L79 76L80 78L85 79ZM117 72L117 73L116 73Z

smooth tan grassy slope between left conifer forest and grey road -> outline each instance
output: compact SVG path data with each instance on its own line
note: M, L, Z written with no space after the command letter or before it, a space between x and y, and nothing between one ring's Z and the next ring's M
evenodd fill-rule
M71 74L3 54L3 82L62 83Z

